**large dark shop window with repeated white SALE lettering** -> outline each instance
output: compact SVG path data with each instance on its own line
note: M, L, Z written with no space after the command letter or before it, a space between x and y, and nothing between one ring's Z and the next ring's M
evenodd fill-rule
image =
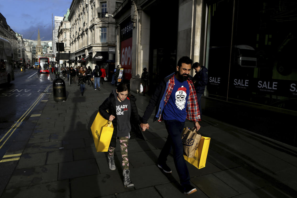
M289 0L208 3L204 95L297 111L296 7Z

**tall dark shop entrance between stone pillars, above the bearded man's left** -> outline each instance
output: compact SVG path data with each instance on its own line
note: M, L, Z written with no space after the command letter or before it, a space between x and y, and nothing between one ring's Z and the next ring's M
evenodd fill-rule
M151 5L148 14L150 25L149 70L150 88L154 91L160 80L176 70L178 33L178 1L158 1Z

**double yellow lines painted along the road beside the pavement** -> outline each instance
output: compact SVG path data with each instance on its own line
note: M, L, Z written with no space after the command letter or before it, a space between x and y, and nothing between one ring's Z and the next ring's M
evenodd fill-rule
M48 87L45 89L44 92L48 91L49 87L51 85L48 85ZM31 107L29 107L29 109L26 110L26 112L18 119L18 121L16 121L12 127L9 129L9 131L1 138L0 140L0 144L1 142L4 140L4 138L10 133L10 135L7 137L7 139L2 143L2 145L0 146L0 149L3 147L3 145L7 142L7 140L10 138L10 136L15 132L15 130L21 125L21 123L23 122L23 120L29 115L29 113L33 110L33 108L36 106L36 104L39 103L40 99L45 95L45 93L40 94L40 96L35 100L35 102L31 105ZM36 115L35 115L36 116ZM37 115L40 116L40 115Z

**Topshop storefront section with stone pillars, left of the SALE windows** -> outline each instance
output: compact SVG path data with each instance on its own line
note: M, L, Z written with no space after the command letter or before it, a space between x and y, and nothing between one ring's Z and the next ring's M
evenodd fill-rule
M165 7L168 2L163 0L125 0L113 12L116 65L124 68L124 79L134 92L138 92L145 67L154 89L160 79L175 71L181 56L199 61L201 1L173 0L170 9Z

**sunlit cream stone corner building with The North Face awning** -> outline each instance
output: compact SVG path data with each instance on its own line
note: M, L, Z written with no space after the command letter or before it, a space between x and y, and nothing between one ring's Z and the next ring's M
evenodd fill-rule
M75 53L74 66L94 69L97 64L105 67L108 75L113 71L114 52L108 53L108 49L116 46L115 19L105 15L111 15L120 3L116 0L72 1L68 20L71 23L70 51Z

